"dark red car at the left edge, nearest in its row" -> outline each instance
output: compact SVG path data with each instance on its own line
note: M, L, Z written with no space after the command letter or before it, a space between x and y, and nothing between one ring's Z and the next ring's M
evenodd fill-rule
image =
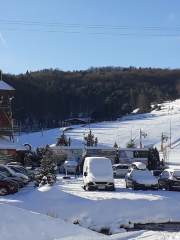
M18 192L18 184L10 179L4 179L0 176L0 196Z

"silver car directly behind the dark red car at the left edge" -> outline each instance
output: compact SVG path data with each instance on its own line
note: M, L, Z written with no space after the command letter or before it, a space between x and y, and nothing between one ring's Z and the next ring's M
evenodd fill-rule
M25 174L22 173L15 173L11 168L4 164L0 164L0 172L6 175L7 177L20 177L24 184L28 184L29 178Z

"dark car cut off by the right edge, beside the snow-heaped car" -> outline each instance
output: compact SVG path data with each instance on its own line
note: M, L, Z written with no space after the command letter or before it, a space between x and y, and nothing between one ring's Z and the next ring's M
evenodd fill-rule
M180 169L165 169L158 178L159 188L180 189Z

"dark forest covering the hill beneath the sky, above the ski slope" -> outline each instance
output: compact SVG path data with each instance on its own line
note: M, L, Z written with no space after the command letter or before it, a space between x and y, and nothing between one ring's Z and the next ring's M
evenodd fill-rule
M83 71L43 69L3 74L15 88L13 118L22 127L62 126L68 118L116 120L151 110L151 104L180 97L180 69L90 67Z

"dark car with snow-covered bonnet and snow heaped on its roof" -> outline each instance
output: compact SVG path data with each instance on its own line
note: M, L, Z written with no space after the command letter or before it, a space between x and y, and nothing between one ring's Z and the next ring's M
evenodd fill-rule
M134 162L125 176L126 188L158 190L158 180L142 162Z

